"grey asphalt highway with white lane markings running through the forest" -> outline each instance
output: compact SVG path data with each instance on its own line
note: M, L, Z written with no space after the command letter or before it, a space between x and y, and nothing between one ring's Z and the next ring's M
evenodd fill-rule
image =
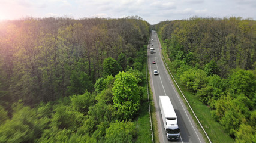
M153 54L150 53L150 48L155 49ZM161 58L160 48L161 45L157 33L152 31L147 50L147 60L150 73L150 86L153 92L153 100L156 108L156 119L158 120L159 140L160 142L170 142L166 137L159 108L159 96L166 95L170 97L171 103L173 104L174 110L177 114L177 123L180 128L180 139L173 142L205 142L201 133L198 131L194 120L189 114L186 105L177 93L167 70L165 69L164 62ZM152 61L156 61L156 64L152 64ZM159 74L154 75L153 70L158 70Z

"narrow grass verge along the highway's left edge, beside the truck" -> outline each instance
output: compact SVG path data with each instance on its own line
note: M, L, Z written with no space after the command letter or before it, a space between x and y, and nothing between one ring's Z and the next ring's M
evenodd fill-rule
M147 48L145 48L147 49ZM146 51L147 52L147 51ZM149 103L147 100L147 80L149 80L149 72L147 69L147 65L143 64L143 79L142 79L142 98L141 98L141 107L138 111L138 116L134 120L135 125L137 126L137 139L135 142L152 142L152 132L150 127L150 118L149 118ZM148 77L146 77L146 72ZM146 79L148 78L148 79ZM156 113L155 113L155 106L153 104L153 97L152 93L150 92L150 85L149 86L149 100L150 100L150 108L151 108L151 117L152 117L152 126L153 126L153 138L154 142L159 142L158 138L158 128L157 128L157 121L156 121Z

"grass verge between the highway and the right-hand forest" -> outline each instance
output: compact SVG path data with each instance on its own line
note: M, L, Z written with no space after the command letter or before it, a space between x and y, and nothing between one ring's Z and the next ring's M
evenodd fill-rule
M191 105L191 108L194 110L194 113L197 115L198 120L200 120L204 130L206 130L206 133L209 136L210 141L211 142L234 142L234 139L231 138L227 133L225 133L223 127L213 119L210 108L204 105L201 101L199 101L198 98L195 96L195 94L189 91L186 88L186 86L182 85L179 78L177 77L176 70L172 67L171 61L168 58L166 46L163 44L161 39L159 39L159 41L161 42L161 45L162 45L162 55L164 56L164 59L168 65L168 68L171 71L171 74L173 74L173 77L176 80L177 84L179 85L180 89L182 90L183 94L185 95L186 100L188 100L189 104ZM172 77L171 79L173 80ZM203 129L201 129L201 126L197 122L197 119L195 119L194 114L192 113L191 109L189 108L188 104L183 98L181 92L177 88L177 85L175 83L174 85L176 86L176 89L179 92L180 97L185 102L189 113L191 114L195 123L197 124L197 128L200 130L201 134L203 135L204 141L209 142L206 135L203 132Z

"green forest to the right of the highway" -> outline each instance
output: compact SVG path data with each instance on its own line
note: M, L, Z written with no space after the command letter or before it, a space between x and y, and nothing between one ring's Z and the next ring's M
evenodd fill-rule
M256 142L256 21L193 17L154 28L182 84L236 142Z

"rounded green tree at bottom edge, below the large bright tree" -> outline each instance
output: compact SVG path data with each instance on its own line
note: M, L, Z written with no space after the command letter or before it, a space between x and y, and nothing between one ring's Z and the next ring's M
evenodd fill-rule
M135 125L132 122L116 122L106 130L106 142L134 142Z

